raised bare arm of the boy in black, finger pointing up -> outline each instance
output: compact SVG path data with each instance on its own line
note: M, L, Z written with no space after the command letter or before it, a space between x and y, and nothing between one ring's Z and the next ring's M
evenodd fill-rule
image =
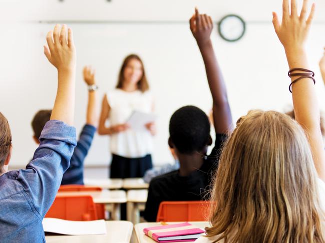
M197 8L195 8L195 14L190 19L190 29L196 39L205 65L213 99L215 132L224 134L232 131L233 125L226 85L210 39L212 28L211 17L206 14L199 14Z

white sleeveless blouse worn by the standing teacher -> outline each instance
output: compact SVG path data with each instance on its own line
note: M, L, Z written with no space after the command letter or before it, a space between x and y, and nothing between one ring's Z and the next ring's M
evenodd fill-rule
M107 92L110 105L110 125L126 123L133 111L152 112L153 95L150 91L136 90L126 92L114 89ZM152 153L152 135L147 129L132 130L111 135L110 150L112 154L126 158L140 158Z

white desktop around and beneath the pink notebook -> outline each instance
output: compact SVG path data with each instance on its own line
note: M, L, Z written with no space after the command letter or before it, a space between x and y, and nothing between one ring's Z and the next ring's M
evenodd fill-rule
M177 223L183 223L183 222L171 222L167 224L177 224ZM189 222L190 224L200 228L204 229L205 227L209 226L209 222ZM154 240L152 240L150 237L147 237L143 233L143 229L148 227L154 227L154 226L160 226L160 223L140 223L136 224L134 226L135 235L137 237L138 243L156 243ZM183 243L192 243L192 242L183 242Z

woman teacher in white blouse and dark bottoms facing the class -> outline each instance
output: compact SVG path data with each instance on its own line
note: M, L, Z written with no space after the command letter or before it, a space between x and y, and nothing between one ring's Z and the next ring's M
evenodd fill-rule
M153 95L149 91L143 62L128 55L122 64L116 88L104 95L98 127L100 135L110 135L112 163L110 178L143 177L152 168L152 136L155 124L132 129L126 123L134 111L152 113ZM106 121L109 120L109 126Z

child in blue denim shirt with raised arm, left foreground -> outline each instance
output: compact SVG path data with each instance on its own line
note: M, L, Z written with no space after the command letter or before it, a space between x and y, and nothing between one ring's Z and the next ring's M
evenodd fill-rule
M66 32L68 31L68 36ZM52 37L53 35L53 37ZM0 113L0 236L2 243L45 242L42 221L60 187L76 146L72 127L75 110L76 50L72 30L59 24L47 35L44 53L58 70L58 91L51 120L40 146L25 170L7 172L12 137Z

